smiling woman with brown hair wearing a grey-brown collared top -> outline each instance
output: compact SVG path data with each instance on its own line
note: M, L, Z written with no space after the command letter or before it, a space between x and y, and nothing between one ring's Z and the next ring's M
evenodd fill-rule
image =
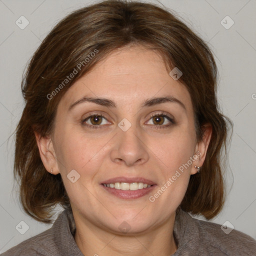
M256 255L192 218L224 203L228 118L207 45L170 12L103 1L60 21L22 82L14 171L24 210L52 227L2 255ZM227 227L224 227L227 229Z

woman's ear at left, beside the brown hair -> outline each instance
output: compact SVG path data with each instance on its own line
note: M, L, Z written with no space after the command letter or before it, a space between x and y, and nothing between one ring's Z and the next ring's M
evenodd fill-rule
M51 137L42 137L34 131L36 143L40 152L40 157L45 169L51 174L59 173L57 159L55 156ZM52 169L52 172L51 172Z

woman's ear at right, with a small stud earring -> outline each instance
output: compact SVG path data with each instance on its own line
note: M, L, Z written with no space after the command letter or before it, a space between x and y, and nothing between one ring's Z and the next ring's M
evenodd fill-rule
M197 155L198 157L193 161L191 174L197 173L197 168L195 168L194 166L199 166L199 167L202 166L206 156L208 145L210 143L211 134L212 134L212 126L210 123L206 123L202 125L201 128L203 130L203 135L202 135L202 139L198 141L195 146L194 155Z

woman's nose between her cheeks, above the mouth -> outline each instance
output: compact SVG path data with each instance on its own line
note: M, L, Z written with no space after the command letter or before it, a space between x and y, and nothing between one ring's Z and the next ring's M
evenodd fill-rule
M143 136L136 131L135 125L131 125L126 131L118 128L110 158L116 163L127 166L142 164L148 160L148 148L143 141Z

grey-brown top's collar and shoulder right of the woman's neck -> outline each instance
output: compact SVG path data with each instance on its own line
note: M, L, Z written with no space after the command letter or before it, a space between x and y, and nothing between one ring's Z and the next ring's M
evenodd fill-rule
M176 211L173 232L178 245L175 256L256 256L256 240L251 236L197 219L181 208Z

